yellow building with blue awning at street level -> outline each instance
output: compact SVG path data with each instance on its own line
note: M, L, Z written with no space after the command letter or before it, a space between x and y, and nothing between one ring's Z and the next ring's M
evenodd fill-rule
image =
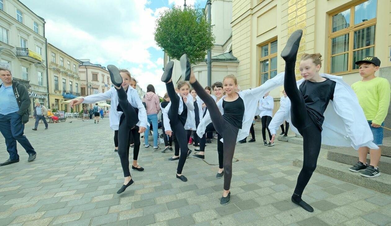
M70 106L61 102L81 95L80 61L50 43L48 43L47 53L49 55L49 108L71 112ZM75 112L80 110L80 107L76 106Z

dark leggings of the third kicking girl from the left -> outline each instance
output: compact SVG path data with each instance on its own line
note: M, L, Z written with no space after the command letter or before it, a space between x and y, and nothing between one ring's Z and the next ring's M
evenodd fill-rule
M217 133L219 133L224 139L224 156L223 156L223 168L224 168L224 190L230 190L231 178L232 178L232 159L235 152L236 140L238 137L239 128L232 126L229 122L226 122L217 104L213 98L205 92L204 88L195 81L192 84L197 95L204 101L206 107L208 107L210 118Z

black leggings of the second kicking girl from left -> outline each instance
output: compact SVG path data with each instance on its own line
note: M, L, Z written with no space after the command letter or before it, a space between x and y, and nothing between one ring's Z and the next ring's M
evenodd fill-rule
M171 100L171 106L168 112L168 116L170 118L170 126L172 131L174 132L174 135L176 137L176 140L178 141L178 146L181 150L181 155L179 156L179 162L178 162L178 168L176 169L177 174L182 174L183 166L185 165L186 158L187 158L187 143L188 140L186 140L186 131L185 131L185 125L179 120L178 115L178 109L179 109L179 97L175 92L174 84L172 82L166 83L167 93L169 94L170 100ZM183 103L185 104L185 103ZM177 145L175 149L177 148ZM179 152L178 152L179 154ZM178 156L177 154L175 154Z

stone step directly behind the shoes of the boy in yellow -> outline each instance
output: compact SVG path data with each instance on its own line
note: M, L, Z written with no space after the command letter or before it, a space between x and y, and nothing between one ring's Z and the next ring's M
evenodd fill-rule
M327 159L340 163L345 163L348 165L354 165L357 163L357 161L359 161L359 153L353 148L336 148L328 150ZM369 154L367 155L367 162L370 162ZM391 157L382 156L380 158L378 166L380 172L391 174Z

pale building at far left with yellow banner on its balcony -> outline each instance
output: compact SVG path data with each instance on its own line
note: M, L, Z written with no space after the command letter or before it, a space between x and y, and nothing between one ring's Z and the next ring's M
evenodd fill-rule
M17 0L0 0L0 66L48 107L45 20Z

